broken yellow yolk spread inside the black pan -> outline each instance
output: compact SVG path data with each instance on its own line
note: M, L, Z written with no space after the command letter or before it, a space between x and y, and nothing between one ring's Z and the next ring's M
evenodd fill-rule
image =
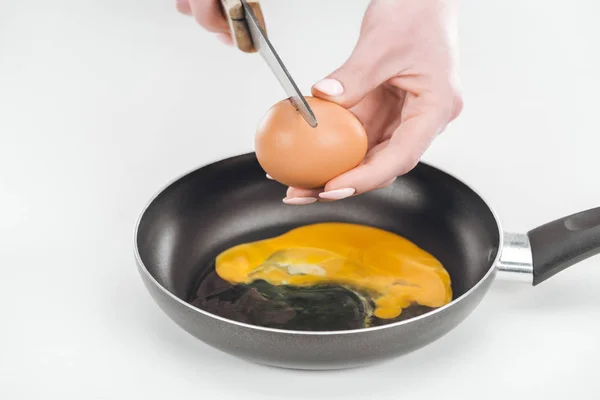
M303 226L240 244L217 256L216 272L233 284L339 284L362 290L374 315L396 318L413 303L441 307L452 300L450 275L431 254L381 229L347 223Z

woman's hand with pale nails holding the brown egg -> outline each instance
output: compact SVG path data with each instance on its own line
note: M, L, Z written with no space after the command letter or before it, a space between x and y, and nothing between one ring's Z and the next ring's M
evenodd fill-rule
M339 200L383 188L412 170L462 110L457 0L372 0L349 59L312 93L352 111L369 151L321 190L289 188L288 204Z

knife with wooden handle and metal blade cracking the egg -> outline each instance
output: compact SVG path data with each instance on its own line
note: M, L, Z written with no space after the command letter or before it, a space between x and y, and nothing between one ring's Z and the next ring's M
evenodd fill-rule
M304 120L313 128L318 121L306 98L302 95L288 69L267 38L264 17L259 0L221 0L223 12L229 22L231 36L237 48L246 53L258 52L289 96Z

